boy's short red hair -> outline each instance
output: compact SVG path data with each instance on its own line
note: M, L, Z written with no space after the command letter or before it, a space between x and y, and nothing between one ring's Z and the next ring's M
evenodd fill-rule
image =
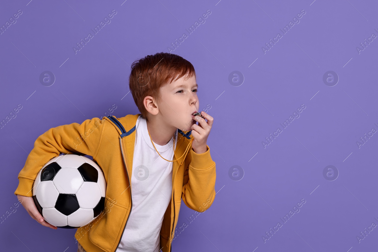
M185 79L195 76L194 66L176 54L156 53L132 63L129 88L144 119L148 113L143 104L144 97L152 96L156 102L161 102L160 88L186 74Z

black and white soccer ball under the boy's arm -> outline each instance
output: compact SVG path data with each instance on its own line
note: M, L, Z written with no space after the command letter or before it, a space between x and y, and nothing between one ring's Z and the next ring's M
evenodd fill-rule
M43 218L56 227L87 225L104 210L106 182L101 168L79 155L57 156L38 172L34 203Z

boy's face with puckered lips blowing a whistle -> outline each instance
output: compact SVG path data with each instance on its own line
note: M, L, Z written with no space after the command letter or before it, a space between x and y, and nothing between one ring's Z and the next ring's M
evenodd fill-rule
M188 79L185 79L186 77L183 76L161 87L161 102L158 103L164 122L183 131L191 130L192 125L196 123L192 114L198 112L200 107L195 75Z

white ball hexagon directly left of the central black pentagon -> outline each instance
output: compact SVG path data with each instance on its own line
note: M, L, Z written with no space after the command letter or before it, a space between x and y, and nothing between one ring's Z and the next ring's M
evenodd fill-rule
M38 185L36 196L42 208L50 208L55 206L59 192L53 181L42 181Z

